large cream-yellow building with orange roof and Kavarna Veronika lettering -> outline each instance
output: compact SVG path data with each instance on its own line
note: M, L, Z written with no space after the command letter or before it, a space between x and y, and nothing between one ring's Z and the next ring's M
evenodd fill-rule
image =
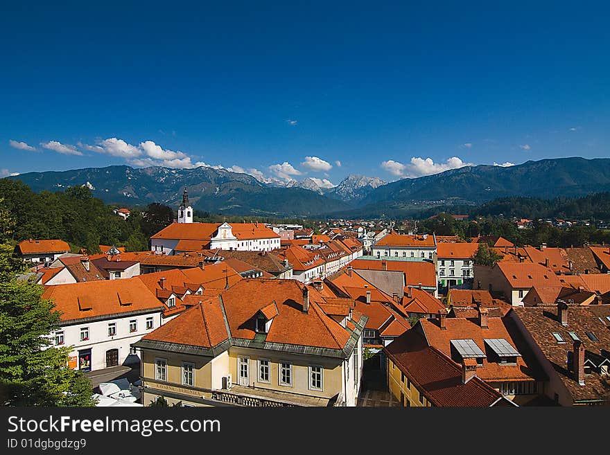
M297 280L241 280L134 344L143 404L355 406L366 321Z

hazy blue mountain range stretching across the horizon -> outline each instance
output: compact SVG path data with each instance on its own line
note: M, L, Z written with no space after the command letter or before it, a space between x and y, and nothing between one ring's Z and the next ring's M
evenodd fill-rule
M109 204L177 206L186 186L195 209L261 216L408 216L435 205L477 205L499 197L582 197L610 190L610 159L560 158L502 166L466 166L435 175L385 183L349 175L337 186L319 179L264 184L223 169L109 166L62 172L27 172L19 179L34 191L88 186Z

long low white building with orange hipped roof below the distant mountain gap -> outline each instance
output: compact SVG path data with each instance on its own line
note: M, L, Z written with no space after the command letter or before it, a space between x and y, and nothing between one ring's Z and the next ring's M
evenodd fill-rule
M391 232L371 247L374 258L433 260L436 257L435 235L399 235Z

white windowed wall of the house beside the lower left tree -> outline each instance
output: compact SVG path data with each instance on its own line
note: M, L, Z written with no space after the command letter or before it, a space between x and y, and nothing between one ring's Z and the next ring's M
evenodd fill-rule
M146 330L146 319L153 318L153 328ZM137 331L129 331L129 323L132 320L137 321ZM108 324L116 323L116 335L108 336ZM119 365L125 362L125 359L130 355L130 344L139 341L148 332L152 332L155 328L161 325L161 312L150 314L139 314L137 316L126 316L116 319L106 319L104 321L84 322L74 325L62 325L56 332L64 332L64 344L62 346L71 346L70 350L70 366L78 369L78 351L91 349L91 369L101 370L106 368L106 352L111 349L119 350ZM80 341L80 328L89 328L89 340ZM53 340L54 338L53 334ZM133 359L137 362L137 358Z

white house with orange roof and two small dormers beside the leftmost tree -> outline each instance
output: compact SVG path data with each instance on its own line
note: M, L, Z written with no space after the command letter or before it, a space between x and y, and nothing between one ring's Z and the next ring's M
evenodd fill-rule
M162 323L164 305L137 278L46 287L61 323L55 346L71 346L70 368L94 371L137 363L130 345Z

